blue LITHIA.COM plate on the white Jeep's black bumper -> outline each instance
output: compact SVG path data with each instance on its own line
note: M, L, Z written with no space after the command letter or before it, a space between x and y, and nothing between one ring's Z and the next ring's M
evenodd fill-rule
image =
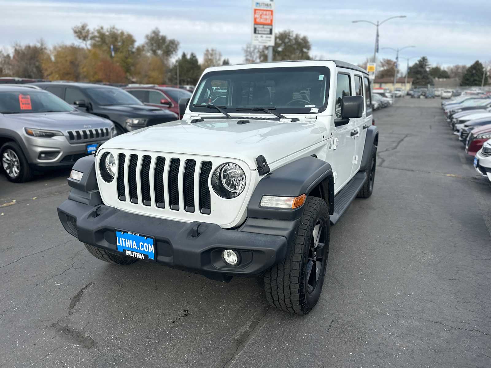
M155 240L129 231L116 230L118 252L140 260L155 261Z

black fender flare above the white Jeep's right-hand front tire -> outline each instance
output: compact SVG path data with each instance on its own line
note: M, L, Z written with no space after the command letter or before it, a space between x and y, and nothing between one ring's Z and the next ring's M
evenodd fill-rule
M329 205L329 212L332 214L334 210L334 175L331 165L319 158L309 156L287 163L262 178L247 205L247 217L277 220L300 218L303 206L297 209L261 207L263 195L285 197L309 195L319 184L322 184L323 192L327 189L324 199Z

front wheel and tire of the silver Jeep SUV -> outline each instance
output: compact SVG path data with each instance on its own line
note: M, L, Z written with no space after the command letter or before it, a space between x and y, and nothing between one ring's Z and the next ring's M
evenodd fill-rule
M5 177L12 183L28 182L32 178L31 169L21 147L15 142L7 142L0 148L1 167Z

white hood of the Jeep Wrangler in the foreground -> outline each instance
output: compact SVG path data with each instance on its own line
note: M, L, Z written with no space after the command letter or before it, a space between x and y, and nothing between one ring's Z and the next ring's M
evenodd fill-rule
M317 125L304 120L282 123L247 118L249 123L238 125L239 120L179 120L116 136L102 147L237 158L255 169L259 155L271 164L322 140Z

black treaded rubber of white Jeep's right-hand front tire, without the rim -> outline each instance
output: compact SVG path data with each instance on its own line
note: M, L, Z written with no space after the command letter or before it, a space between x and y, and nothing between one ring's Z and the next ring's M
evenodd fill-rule
M311 229L319 212L325 211L327 217L327 244L329 243L329 211L326 201L318 197L307 197L300 218L293 245L283 262L270 268L264 274L264 290L266 299L273 307L297 315L306 315L312 308L307 305L304 290L305 241L310 241ZM307 239L306 239L307 237ZM324 262L327 262L325 257ZM321 281L324 282L326 264Z

